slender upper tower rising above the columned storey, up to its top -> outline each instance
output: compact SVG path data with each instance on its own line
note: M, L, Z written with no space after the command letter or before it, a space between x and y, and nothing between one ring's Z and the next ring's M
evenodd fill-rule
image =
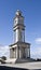
M14 42L25 42L25 25L24 25L24 16L22 16L22 12L17 10L14 18Z

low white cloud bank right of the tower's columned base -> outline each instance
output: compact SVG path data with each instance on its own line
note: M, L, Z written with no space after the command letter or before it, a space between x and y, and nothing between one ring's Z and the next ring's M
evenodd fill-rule
M30 51L30 54L31 54L31 57L33 57L33 58L41 58L41 46L32 48Z

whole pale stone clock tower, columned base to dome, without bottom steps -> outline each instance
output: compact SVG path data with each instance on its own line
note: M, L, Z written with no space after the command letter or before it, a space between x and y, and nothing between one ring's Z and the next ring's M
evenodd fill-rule
M10 45L10 58L30 58L30 43L25 42L24 16L19 10L14 17L14 43Z

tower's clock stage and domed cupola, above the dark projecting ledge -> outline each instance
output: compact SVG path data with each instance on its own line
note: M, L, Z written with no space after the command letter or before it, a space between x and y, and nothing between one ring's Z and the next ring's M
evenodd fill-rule
M22 11L17 10L14 17L14 26L16 25L24 25L24 16Z

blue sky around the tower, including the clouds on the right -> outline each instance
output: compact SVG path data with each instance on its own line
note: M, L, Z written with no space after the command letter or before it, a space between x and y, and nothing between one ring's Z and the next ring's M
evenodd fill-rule
M25 37L31 43L31 57L41 58L41 0L0 0L0 44L14 43L13 17L17 10L25 17Z

